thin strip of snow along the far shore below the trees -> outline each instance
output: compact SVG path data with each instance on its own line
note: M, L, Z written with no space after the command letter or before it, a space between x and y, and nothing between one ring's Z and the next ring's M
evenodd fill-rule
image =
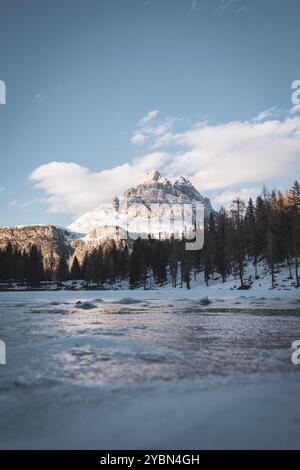
M209 289L174 289L165 287L157 290L107 290L107 291L18 291L0 292L0 302L39 302L53 301L59 305L67 302L69 307L75 306L76 302L95 301L95 306L102 307L102 302L121 303L137 307L134 301L139 301L139 308L152 306L162 308L170 306L172 301L179 302L179 307L202 306L203 308L298 308L300 309L300 291L291 289L285 291L249 289L246 291L221 289L220 286L211 286ZM100 300L100 302L99 302ZM102 301L102 302L101 302ZM153 301L155 304L153 304ZM93 302L92 302L93 303ZM66 304L65 304L66 305Z

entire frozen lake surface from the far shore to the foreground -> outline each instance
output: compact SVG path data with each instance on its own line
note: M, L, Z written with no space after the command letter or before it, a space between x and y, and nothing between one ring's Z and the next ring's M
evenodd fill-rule
M300 448L295 292L0 293L1 448Z

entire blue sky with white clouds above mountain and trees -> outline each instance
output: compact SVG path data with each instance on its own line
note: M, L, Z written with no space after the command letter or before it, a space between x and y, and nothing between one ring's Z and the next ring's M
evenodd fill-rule
M300 179L299 0L0 0L0 225L68 225L148 169L217 208Z

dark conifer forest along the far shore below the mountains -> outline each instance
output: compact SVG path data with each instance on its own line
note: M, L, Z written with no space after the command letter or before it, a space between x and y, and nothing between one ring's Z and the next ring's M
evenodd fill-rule
M0 281L26 283L32 288L42 281L61 285L64 281L85 281L99 288L128 281L131 288L163 286L190 288L197 273L204 273L208 286L214 275L222 282L236 276L240 288L249 288L245 266L252 263L255 277L262 260L268 266L270 286L276 286L276 272L285 263L290 279L300 286L300 185L296 181L286 193L272 191L249 200L237 198L230 209L221 208L205 223L205 243L200 251L186 251L185 240L137 239L130 246L125 242L105 241L87 253L80 264L75 256L70 263L62 256L55 271L43 268L39 249L20 251L9 243L0 251Z

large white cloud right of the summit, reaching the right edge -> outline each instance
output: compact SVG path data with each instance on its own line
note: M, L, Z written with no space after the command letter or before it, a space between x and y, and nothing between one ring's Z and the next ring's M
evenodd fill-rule
M300 117L204 125L164 138L177 147L168 172L192 177L202 191L300 174Z

